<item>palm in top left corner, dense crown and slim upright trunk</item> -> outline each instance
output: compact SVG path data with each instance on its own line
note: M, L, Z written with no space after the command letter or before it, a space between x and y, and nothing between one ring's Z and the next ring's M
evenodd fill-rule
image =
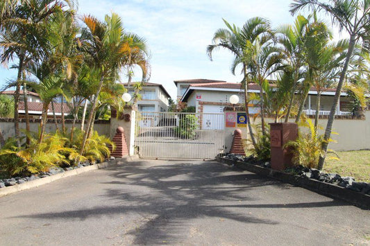
M17 145L19 141L19 116L18 103L19 91L22 85L22 75L24 69L31 61L40 59L40 51L45 42L47 42L47 22L57 12L67 11L67 6L72 7L70 0L27 0L27 1L6 1L3 7L8 3L14 3L11 11L4 14L1 18L1 41L0 46L3 49L1 53L1 62L8 62L15 57L17 64L17 83L15 89L15 137Z

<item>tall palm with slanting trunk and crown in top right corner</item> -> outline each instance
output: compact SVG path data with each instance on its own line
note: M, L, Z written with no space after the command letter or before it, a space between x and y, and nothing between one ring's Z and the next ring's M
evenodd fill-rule
M330 109L328 123L326 125L324 134L325 141L322 146L323 155L319 158L318 164L319 169L323 168L323 163L326 158L328 141L333 128L335 110L339 103L339 97L342 92L344 78L346 78L348 63L353 55L355 45L360 42L361 39L367 40L369 38L369 7L370 0L330 0L325 2L319 0L294 0L290 5L290 12L292 12L292 14L303 8L326 12L328 15L330 15L333 23L339 26L339 30L346 30L346 32L350 35L346 60L344 61L344 65L340 73L339 82L335 91L334 102Z

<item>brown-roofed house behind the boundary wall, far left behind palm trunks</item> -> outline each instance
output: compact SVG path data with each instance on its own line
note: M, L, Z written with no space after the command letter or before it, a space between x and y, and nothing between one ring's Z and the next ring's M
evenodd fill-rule
M14 96L15 91L2 91L0 94L12 97ZM18 105L18 114L19 118L24 118L26 116L26 110L24 109L24 92L21 90L19 91L19 105ZM28 105L28 115L30 118L40 118L42 115L42 107L43 103L40 99L39 94L32 92L32 91L27 91L27 105ZM56 118L61 118L62 117L62 104L61 103L53 103L54 104L54 112L56 114ZM63 104L63 112L65 116L69 115L71 112L71 109L67 105L67 103ZM49 108L47 110L47 117L48 118L53 118L53 109L51 104L49 105Z

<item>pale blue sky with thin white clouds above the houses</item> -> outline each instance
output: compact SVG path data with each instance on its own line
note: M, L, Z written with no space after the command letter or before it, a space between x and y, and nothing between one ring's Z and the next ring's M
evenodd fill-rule
M233 55L219 50L213 61L206 54L212 37L225 28L223 18L230 24L242 26L251 17L265 17L273 28L292 24L289 0L79 0L78 15L94 15L103 19L116 12L127 32L146 39L150 50L151 79L162 84L172 98L176 98L174 80L205 78L239 82L237 71L230 72ZM304 14L304 13L303 13ZM324 17L323 17L324 18ZM334 28L335 29L335 28ZM339 37L339 35L337 35ZM10 67L10 66L9 66ZM0 67L0 87L6 80L16 78L15 69ZM141 72L135 69L134 80ZM127 78L122 74L121 81Z

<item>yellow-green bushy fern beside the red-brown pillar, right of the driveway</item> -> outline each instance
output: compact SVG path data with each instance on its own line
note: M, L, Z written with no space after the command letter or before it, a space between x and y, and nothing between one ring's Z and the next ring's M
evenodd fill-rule
M301 126L308 128L309 132L299 132L298 139L296 141L289 141L283 148L290 148L293 155L292 161L295 165L317 168L319 157L324 155L321 146L323 143L333 142L333 139L326 141L323 138L323 134L317 134L317 128L314 127L314 123L312 123L310 118L302 121ZM333 150L328 150L328 153L335 154ZM330 159L338 158L330 157Z

